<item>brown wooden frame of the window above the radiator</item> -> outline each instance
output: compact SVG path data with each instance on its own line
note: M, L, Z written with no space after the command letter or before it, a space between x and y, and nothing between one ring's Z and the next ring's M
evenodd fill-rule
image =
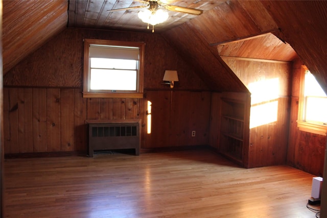
M90 89L90 45L111 45L122 47L138 47L138 69L136 76L136 90L91 90ZM113 41L102 39L84 39L84 69L83 69L83 98L143 98L144 81L144 42Z

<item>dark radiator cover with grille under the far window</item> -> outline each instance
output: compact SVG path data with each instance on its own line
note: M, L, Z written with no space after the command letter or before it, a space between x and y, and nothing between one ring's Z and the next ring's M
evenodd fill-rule
M135 155L139 155L140 121L110 121L88 124L88 156L93 157L97 150L115 149L135 149Z

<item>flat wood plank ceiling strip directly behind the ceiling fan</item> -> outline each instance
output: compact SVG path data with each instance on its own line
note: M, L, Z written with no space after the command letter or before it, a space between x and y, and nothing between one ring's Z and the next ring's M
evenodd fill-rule
M180 7L201 9L204 12L219 6L225 1L177 1L161 0L160 2ZM146 8L134 8L122 11L108 11L128 7L146 6L146 4L133 0L109 0L109 1L69 1L69 22L68 27L87 27L109 30L128 30L150 32L147 30L147 23L138 18L139 11ZM168 11L169 18L164 23L155 25L155 32L162 33L172 29L181 23L197 17L181 12Z

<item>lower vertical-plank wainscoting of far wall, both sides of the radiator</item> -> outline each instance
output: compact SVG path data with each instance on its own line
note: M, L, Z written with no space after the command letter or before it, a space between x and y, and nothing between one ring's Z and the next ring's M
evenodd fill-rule
M146 95L145 99L84 99L82 91L73 88L5 88L5 153L86 154L86 120L139 117L143 149L208 144L210 92L150 90ZM152 102L151 134L147 134L147 101Z

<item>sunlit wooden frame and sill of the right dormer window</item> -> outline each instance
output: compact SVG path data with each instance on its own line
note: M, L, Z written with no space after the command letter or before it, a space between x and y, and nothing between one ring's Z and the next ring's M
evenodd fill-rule
M297 127L300 131L315 133L319 135L326 135L327 125L307 122L306 120L303 120L303 108L305 106L305 76L307 70L308 68L305 65L301 66Z

